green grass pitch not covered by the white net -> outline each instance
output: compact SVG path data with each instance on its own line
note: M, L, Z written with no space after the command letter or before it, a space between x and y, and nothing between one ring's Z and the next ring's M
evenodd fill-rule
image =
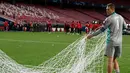
M36 66L55 56L80 36L60 32L0 32L0 49L20 64ZM118 59L121 73L130 73L129 38L123 36L123 54Z

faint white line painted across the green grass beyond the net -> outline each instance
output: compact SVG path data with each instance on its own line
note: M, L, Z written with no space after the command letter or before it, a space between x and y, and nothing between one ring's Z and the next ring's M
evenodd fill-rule
M9 42L24 42L24 43L49 43L49 44L70 44L63 42L42 42L42 41L32 41L32 40L15 40L15 39L0 39L1 41L9 41Z

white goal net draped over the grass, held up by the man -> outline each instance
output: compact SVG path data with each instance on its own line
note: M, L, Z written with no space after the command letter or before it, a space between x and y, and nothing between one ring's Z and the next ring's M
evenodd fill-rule
M39 66L18 64L0 50L0 73L103 73L106 35L79 38Z

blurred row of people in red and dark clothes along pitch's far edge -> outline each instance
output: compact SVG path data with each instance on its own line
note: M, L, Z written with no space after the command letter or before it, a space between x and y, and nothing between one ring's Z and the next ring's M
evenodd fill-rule
M79 33L82 31L89 33L96 31L102 26L101 22L93 21L81 23L80 21L65 21L64 23L52 23L50 20L46 22L0 22L1 31L30 31L30 32L66 32L66 33Z

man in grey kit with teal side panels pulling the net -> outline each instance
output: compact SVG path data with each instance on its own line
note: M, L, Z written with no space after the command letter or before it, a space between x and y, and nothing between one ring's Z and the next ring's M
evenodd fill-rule
M107 4L106 13L108 17L104 21L104 25L93 34L89 34L87 39L92 38L107 30L107 45L105 50L105 56L108 57L107 72L112 73L113 64L116 73L120 73L117 57L122 53L122 29L126 28L126 22L124 18L115 13L115 5L112 3Z

